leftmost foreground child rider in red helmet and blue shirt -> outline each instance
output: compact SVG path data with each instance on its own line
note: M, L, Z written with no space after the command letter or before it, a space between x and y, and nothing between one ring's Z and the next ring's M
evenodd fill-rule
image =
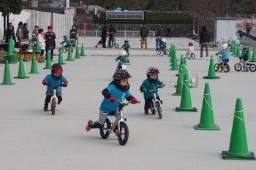
M58 104L61 104L62 101L62 93L61 87L67 87L68 81L66 77L62 75L63 69L59 63L54 63L51 67L51 74L48 74L43 80L42 85L47 85L46 88L46 97L45 97L45 107L44 111L48 111L48 103L50 102L50 98L53 94L53 87L57 87L56 96L58 97Z

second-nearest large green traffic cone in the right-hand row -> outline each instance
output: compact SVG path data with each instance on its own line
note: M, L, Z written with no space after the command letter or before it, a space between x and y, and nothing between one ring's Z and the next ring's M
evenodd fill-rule
M203 93L203 105L201 110L200 123L194 125L195 130L219 130L219 126L214 123L214 110L211 104L211 92L209 83L206 82Z

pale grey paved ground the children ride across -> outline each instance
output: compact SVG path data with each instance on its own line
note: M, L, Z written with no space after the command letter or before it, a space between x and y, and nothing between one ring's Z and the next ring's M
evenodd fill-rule
M237 98L242 99L244 107L248 150L256 151L255 72L236 72L233 66L237 58L231 58L229 73L216 73L220 79L203 79L208 75L209 61L198 59L199 47L195 42L196 59L187 61L187 66L189 74L198 77L198 87L190 88L192 105L198 111L176 112L174 109L180 106L181 97L172 93L176 92L178 71L170 70L167 56L155 55L153 49L140 50L139 39L131 39L132 65L128 70L133 78L129 80L130 90L142 104L124 109L129 140L125 146L120 146L113 134L103 140L98 130L84 131L89 119L97 119L101 91L116 68L114 58L118 50L94 48L96 38L82 41L88 56L65 61L64 75L69 86L64 88L64 101L54 116L42 111L45 87L41 81L50 73L49 69L43 69L45 63L38 63L39 74L27 74L27 79L14 79L19 64L9 65L15 85L0 85L1 170L240 170L255 167L255 161L226 161L220 155L222 150L229 150ZM179 58L184 55L189 41L173 38L168 39L168 45L176 45ZM214 55L216 50L211 50L210 54ZM157 115L143 115L143 96L138 88L146 78L146 68L151 65L159 68L159 78L166 83L165 88L159 90L163 100L162 120ZM4 67L0 64L0 80L4 77ZM24 62L24 67L28 73L31 62ZM195 131L193 128L200 121L206 82L210 85L214 120L220 131Z

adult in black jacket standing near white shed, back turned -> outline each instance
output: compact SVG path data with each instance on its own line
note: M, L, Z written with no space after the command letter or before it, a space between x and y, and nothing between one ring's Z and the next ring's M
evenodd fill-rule
M200 59L203 59L203 48L206 48L206 60L209 59L208 45L210 43L210 33L207 31L206 26L202 26L202 31L200 32L199 44L200 48Z

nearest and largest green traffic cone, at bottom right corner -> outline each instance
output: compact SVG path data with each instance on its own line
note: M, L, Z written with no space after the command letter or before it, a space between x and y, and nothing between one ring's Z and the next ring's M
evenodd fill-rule
M255 154L248 151L241 98L236 99L229 150L222 151L221 155L223 159L255 160Z

